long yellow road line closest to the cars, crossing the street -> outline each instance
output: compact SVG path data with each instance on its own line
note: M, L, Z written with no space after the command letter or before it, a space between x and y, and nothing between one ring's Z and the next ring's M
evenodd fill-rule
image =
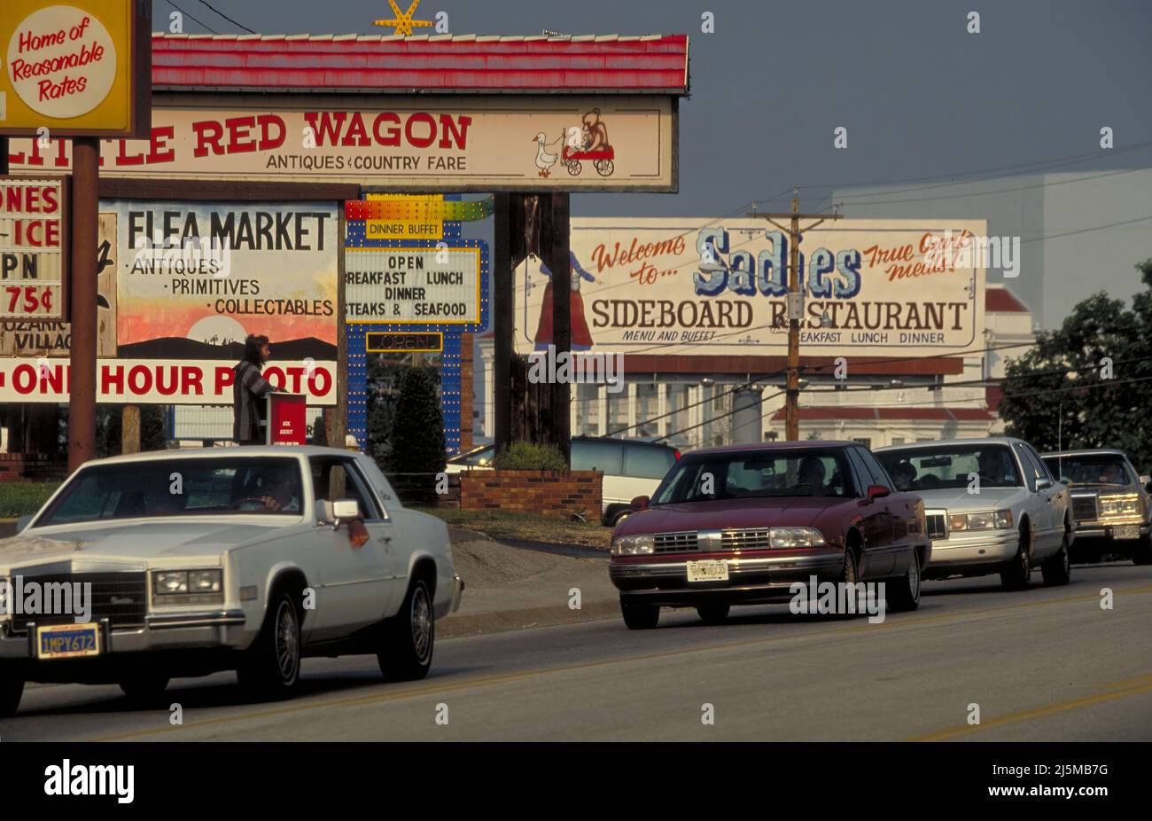
M1143 594L1152 593L1152 586L1137 587L1137 588L1119 588L1117 594ZM676 650L664 650L660 653L649 653L636 656L624 656L620 658L601 658L592 662L582 662L579 664L564 664L554 668L544 668L540 670L524 670L522 672L503 673L500 676L483 676L479 678L470 678L463 681L455 681L452 684L441 684L433 686L408 686L402 690L389 691L387 693L374 693L371 695L353 696L347 699L329 699L326 701L300 703L295 706L276 707L273 709L260 710L257 713L240 713L230 716L221 716L219 718L209 718L205 721L195 722L191 724L181 725L164 725L159 728L149 728L146 730L134 730L131 732L118 733L114 736L101 736L90 740L93 741L123 741L132 738L143 738L146 736L157 736L168 732L179 732L181 730L191 729L203 729L209 726L218 726L221 724L232 724L241 721L252 721L259 718L270 718L273 716L285 716L291 715L294 713L303 713L305 710L317 710L317 709L328 709L339 707L358 707L364 705L379 705L387 703L392 701L401 701L403 699L426 696L432 698L435 695L441 695L445 693L455 693L464 690L472 690L478 687L488 687L493 685L501 684L513 684L517 681L524 681L532 678L538 678L541 676L550 676L555 673L570 673L582 670L592 670L597 668L613 666L616 664L632 664L643 663L649 661L660 661L666 658L676 658L679 656L692 655L697 653L711 653L715 650L732 650L740 649L742 647L756 647L760 645L779 643L781 641L790 641L796 639L810 640L818 639L828 635L842 635L846 633L876 633L878 630L896 630L904 627L915 627L924 624L939 624L942 622L956 622L963 618L969 618L972 616L987 616L992 613L1000 613L1009 610L1023 610L1039 607L1047 607L1051 604L1073 604L1077 602L1086 601L1099 601L1098 594L1089 594L1082 596L1067 596L1063 598L1046 598L1044 601L1023 602L1021 604L1001 604L993 608L980 608L977 610L963 610L958 612L943 613L940 616L920 616L912 618L901 618L896 623L885 622L882 624L862 624L856 627L835 627L820 630L813 633L805 634L787 634L787 635L772 635L759 639L744 639L741 641L728 641L720 645L705 645L702 647L684 647ZM1152 684L1149 685L1152 690ZM969 728L964 728L965 730ZM975 730L980 729L979 726ZM973 731L975 731L973 730ZM946 731L948 732L948 731Z

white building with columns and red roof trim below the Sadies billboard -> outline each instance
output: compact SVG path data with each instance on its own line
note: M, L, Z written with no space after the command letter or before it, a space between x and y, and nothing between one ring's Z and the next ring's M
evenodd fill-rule
M1032 314L1010 291L984 294L984 349L965 356L827 357L801 349L801 437L869 446L1001 432L990 379L1034 340ZM493 339L478 338L476 438L493 436ZM574 436L666 439L682 450L785 436L783 357L624 355L623 390L573 385Z

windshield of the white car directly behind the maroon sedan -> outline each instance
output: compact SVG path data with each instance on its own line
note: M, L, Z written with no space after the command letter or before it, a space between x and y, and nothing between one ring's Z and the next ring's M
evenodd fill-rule
M968 488L973 476L980 487L1020 488L1024 484L1007 445L950 445L880 451L876 458L897 490Z

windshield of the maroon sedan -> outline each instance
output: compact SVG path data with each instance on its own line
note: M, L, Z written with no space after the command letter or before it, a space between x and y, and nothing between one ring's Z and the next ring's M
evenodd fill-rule
M689 454L675 464L651 504L799 496L857 496L842 449Z

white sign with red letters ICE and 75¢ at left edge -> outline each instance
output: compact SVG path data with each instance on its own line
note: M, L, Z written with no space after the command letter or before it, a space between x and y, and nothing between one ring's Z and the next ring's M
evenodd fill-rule
M67 317L63 179L0 176L0 318Z

